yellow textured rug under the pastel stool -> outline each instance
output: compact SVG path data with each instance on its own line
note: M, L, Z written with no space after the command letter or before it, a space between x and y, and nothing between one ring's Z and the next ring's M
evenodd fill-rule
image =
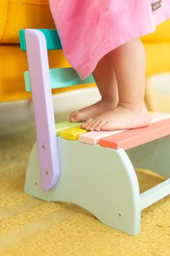
M128 236L76 205L24 194L27 159L35 142L32 124L1 130L0 142L0 255L170 255L170 197L143 210L140 234ZM141 170L138 179L141 192L162 180Z

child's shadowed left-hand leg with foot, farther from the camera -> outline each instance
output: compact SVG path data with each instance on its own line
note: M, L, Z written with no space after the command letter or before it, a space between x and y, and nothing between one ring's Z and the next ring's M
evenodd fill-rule
M112 56L109 54L104 56L97 64L96 69L94 69L93 75L102 95L102 100L73 112L70 116L71 121L86 121L117 106L118 90Z

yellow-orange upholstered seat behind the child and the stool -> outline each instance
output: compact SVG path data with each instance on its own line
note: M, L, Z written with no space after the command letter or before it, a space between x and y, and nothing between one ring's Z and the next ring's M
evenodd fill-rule
M23 72L28 67L26 55L19 48L18 31L24 27L55 28L48 0L0 1L0 10L0 102L31 98L30 93L24 90ZM142 38L147 54L147 77L169 71L169 27L170 20L159 25L156 33ZM70 67L61 50L49 52L49 60L50 68ZM53 93L63 90L68 89L55 89ZM152 95L147 88L146 95L147 106L152 109Z

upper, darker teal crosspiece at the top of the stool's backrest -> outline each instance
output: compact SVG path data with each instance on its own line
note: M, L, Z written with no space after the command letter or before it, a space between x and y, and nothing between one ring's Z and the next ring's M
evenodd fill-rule
M62 49L61 40L58 37L57 30L48 30L48 29L38 29L38 30L40 30L45 35L48 50ZM26 51L24 30L19 30L19 40L20 40L20 47L22 51Z

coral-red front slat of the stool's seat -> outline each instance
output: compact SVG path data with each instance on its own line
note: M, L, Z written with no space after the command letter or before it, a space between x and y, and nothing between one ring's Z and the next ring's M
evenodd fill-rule
M99 145L105 148L128 150L167 135L170 135L170 118L153 122L148 127L130 129L105 137L99 141Z

